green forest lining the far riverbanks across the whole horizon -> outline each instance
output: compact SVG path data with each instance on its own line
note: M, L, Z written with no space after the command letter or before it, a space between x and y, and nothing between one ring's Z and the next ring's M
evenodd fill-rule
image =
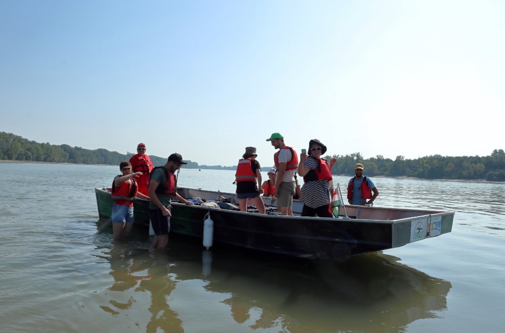
M133 153L125 155L106 149L89 150L69 145L51 145L30 141L19 135L0 132L0 160L109 164L119 165L129 160ZM167 157L149 155L154 165L163 165ZM427 179L486 179L505 181L505 152L502 149L492 151L489 156L441 156L432 155L417 159L396 156L394 160L381 155L365 159L360 153L349 155L326 156L338 159L333 166L333 174L354 174L354 165L363 163L365 175L369 176L408 176ZM235 170L236 166L199 165L188 161L184 166L190 169ZM269 167L262 168L264 171Z

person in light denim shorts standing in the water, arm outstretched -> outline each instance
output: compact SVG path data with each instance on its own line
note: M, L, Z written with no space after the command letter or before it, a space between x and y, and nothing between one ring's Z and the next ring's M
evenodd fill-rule
M131 163L123 161L119 164L119 170L123 174L114 177L112 182L112 232L113 240L118 241L122 237L128 237L133 227L133 201L136 197L147 199L149 197L138 192L136 177L142 172L132 172Z

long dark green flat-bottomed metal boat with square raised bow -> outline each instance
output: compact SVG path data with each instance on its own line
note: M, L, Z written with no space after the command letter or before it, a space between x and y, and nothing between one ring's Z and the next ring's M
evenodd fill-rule
M293 200L293 214L277 212L276 199L264 197L266 214L238 208L237 195L178 187L193 205L172 202L171 232L204 237L204 220L213 220L213 246L220 243L298 258L332 260L400 247L452 230L454 212L345 205L339 218L299 216L303 203ZM95 188L100 218L111 218L111 189ZM135 222L149 225L148 201L134 201Z

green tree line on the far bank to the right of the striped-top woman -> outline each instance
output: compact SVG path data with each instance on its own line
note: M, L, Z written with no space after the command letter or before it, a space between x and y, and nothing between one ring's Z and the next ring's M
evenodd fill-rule
M396 156L393 160L382 155L365 159L360 153L336 157L333 174L354 174L356 163L363 163L365 174L370 176L408 176L428 179L486 179L505 181L505 152L493 150L490 156L431 155L417 159Z

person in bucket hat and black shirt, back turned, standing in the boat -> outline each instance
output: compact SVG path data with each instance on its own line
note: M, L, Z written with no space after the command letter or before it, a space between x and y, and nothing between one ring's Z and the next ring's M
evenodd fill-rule
M258 184L261 184L261 166L257 157L255 147L246 147L242 159L238 160L235 172L236 194L241 212L247 211L247 199L250 199L259 213L265 214L265 204L260 196L263 188L258 188Z

